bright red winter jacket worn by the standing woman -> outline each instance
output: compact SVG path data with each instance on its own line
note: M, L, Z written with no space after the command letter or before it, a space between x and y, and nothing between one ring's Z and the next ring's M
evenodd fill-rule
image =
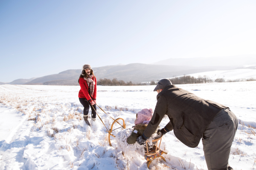
M79 84L80 84L80 91L78 94L79 98L86 98L87 101L90 101L92 99L96 100L96 93L97 93L97 81L96 81L96 77L93 76L93 81L95 82L94 85L94 91L93 91L93 98L90 97L89 92L88 92L88 84L86 82L86 80L84 80L84 78L79 78Z

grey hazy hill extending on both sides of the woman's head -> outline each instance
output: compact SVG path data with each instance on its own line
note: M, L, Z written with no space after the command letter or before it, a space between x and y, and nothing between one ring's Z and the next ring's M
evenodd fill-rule
M215 70L232 69L233 67L195 67L195 66L165 66L142 63L131 63L127 65L113 65L93 68L97 80L100 78L123 81L132 81L140 83L143 81L158 80L165 77L179 76L183 74L193 74L197 72L207 72ZM79 85L78 79L81 69L70 69L58 74L47 75L36 78L26 84L44 84L44 85Z

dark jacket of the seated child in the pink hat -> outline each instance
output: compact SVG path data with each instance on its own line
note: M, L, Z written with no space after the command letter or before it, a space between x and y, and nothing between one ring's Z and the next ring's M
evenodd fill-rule
M127 138L127 143L134 144L136 142L136 139L143 134L143 132L147 126L148 126L148 124L136 124L131 135ZM157 130L158 130L158 128L157 128ZM157 130L155 130L154 133L157 133Z

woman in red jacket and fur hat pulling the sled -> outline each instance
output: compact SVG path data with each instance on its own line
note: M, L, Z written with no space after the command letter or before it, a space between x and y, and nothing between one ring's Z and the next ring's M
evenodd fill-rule
M80 103L84 106L84 121L90 126L90 122L88 121L89 106L92 109L92 121L96 120L97 81L89 64L84 64L82 67L82 74L78 82L81 87L78 97Z

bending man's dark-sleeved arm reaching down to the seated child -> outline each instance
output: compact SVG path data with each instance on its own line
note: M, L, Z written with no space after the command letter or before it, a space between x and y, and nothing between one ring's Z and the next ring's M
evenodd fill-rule
M144 138L145 137L150 138L151 135L156 131L158 125L160 124L164 115L167 112L167 107L168 107L168 103L167 103L166 98L163 96L163 94L159 94L159 96L157 98L157 105L155 107L154 114L153 114L153 116L151 118L151 121L149 122L148 126L144 130L144 133L143 133ZM169 122L167 124L168 126L166 125L168 130L171 129L170 126L169 126L170 124L171 123Z

